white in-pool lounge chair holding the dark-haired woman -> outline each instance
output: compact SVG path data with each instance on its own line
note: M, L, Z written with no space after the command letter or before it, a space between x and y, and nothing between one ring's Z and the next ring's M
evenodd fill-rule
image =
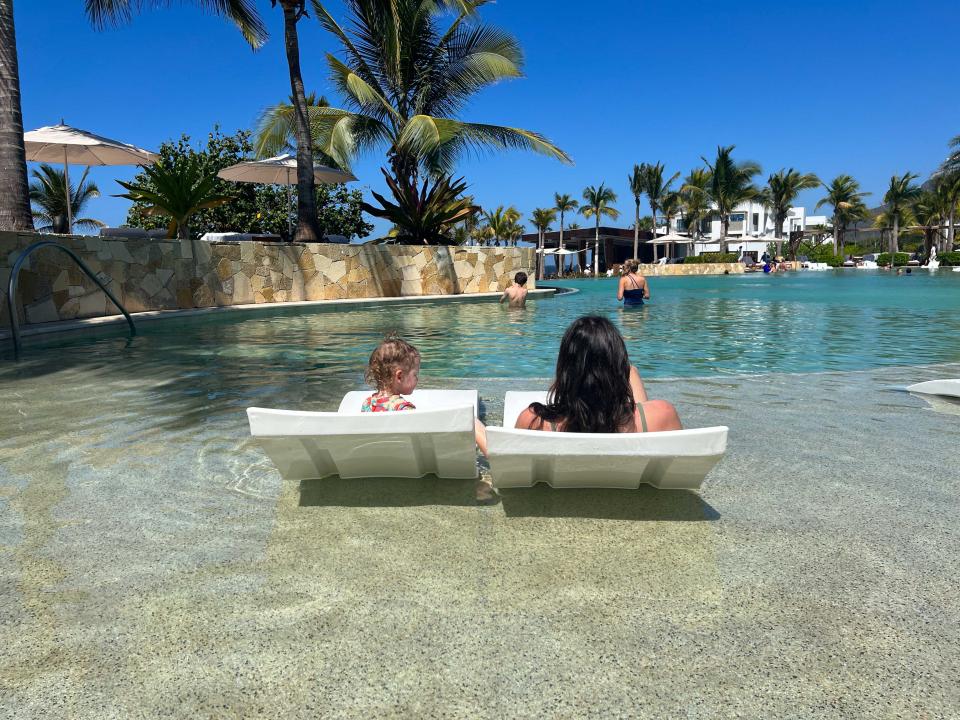
M497 488L696 490L727 450L727 428L655 433L552 433L517 430L520 413L545 392L508 392L503 427L487 428L490 474Z

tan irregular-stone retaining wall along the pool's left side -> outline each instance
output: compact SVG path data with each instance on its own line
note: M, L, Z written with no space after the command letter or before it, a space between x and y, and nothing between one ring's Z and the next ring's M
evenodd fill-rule
M0 232L4 294L19 253L40 239L76 252L130 312L498 292L519 270L530 276L528 287L534 286L532 248L206 243ZM18 295L29 323L117 312L73 260L54 248L30 256L20 272ZM6 303L0 306L0 326L9 326Z

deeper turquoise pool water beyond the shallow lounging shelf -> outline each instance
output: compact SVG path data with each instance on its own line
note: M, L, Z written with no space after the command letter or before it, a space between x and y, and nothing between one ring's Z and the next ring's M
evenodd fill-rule
M142 323L131 343L120 330L34 343L25 364L146 363L216 370L226 379L355 383L370 350L395 330L421 349L427 379L546 377L564 328L586 313L610 317L650 377L960 361L960 273L654 278L652 301L629 309L616 302L614 279L555 284L579 292L532 301L525 310L465 301ZM9 365L0 372L10 372Z

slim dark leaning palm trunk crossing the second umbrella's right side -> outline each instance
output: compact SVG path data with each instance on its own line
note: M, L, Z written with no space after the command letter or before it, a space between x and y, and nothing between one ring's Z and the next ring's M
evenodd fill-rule
M300 72L300 42L297 21L302 17L300 0L281 0L283 7L284 46L290 69L290 89L293 91L294 114L297 118L297 230L300 242L318 242L321 239L317 224L317 199L313 178L313 138L307 117L307 96Z

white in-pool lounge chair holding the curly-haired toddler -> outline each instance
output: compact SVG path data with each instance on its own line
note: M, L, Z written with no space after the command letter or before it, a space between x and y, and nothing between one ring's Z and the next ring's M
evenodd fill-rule
M416 410L361 413L369 394L347 393L337 412L247 408L250 434L287 480L477 476L476 390L416 390Z

